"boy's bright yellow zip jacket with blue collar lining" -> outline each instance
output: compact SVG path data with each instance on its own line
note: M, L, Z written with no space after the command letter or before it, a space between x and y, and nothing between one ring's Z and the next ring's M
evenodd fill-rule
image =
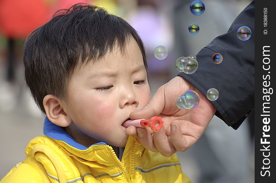
M27 158L0 183L191 183L182 173L176 154L164 157L129 136L120 161L111 146L101 142L84 147L47 120L47 136L32 139L26 148Z

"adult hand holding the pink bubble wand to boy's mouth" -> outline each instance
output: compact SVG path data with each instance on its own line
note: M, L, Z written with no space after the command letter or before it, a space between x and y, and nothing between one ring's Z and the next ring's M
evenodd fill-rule
M187 90L196 91L200 102L194 109L179 109L176 99ZM145 148L160 152L163 156L171 156L176 151L186 151L197 142L215 112L215 107L198 89L177 76L158 88L149 103L141 110L130 113L132 120L160 116L164 121L164 127L158 132L152 132L149 128L130 126L126 133L138 138Z

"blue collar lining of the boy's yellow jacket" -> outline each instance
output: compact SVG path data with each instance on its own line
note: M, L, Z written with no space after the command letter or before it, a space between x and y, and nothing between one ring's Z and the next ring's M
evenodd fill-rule
M60 126L57 126L56 124L53 124L47 116L45 117L44 120L44 127L43 127L43 133L47 137L53 138L55 140L60 140L63 141L74 148L80 149L80 150L85 150L88 149L84 145L79 144L78 142L75 141L74 138L72 138L66 131L64 131ZM93 145L107 145L104 142L99 142Z

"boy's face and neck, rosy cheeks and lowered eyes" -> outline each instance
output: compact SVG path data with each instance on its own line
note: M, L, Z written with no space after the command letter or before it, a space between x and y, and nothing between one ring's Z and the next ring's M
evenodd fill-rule
M143 57L136 41L127 43L125 55L118 49L100 62L75 70L63 105L71 118L67 132L79 143L106 142L125 147L128 135L122 123L151 97Z

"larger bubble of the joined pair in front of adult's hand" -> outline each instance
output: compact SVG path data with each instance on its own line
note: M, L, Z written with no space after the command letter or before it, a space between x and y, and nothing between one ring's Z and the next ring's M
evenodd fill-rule
M199 104L199 95L193 90L188 90L181 95L181 101L185 109L194 109Z

